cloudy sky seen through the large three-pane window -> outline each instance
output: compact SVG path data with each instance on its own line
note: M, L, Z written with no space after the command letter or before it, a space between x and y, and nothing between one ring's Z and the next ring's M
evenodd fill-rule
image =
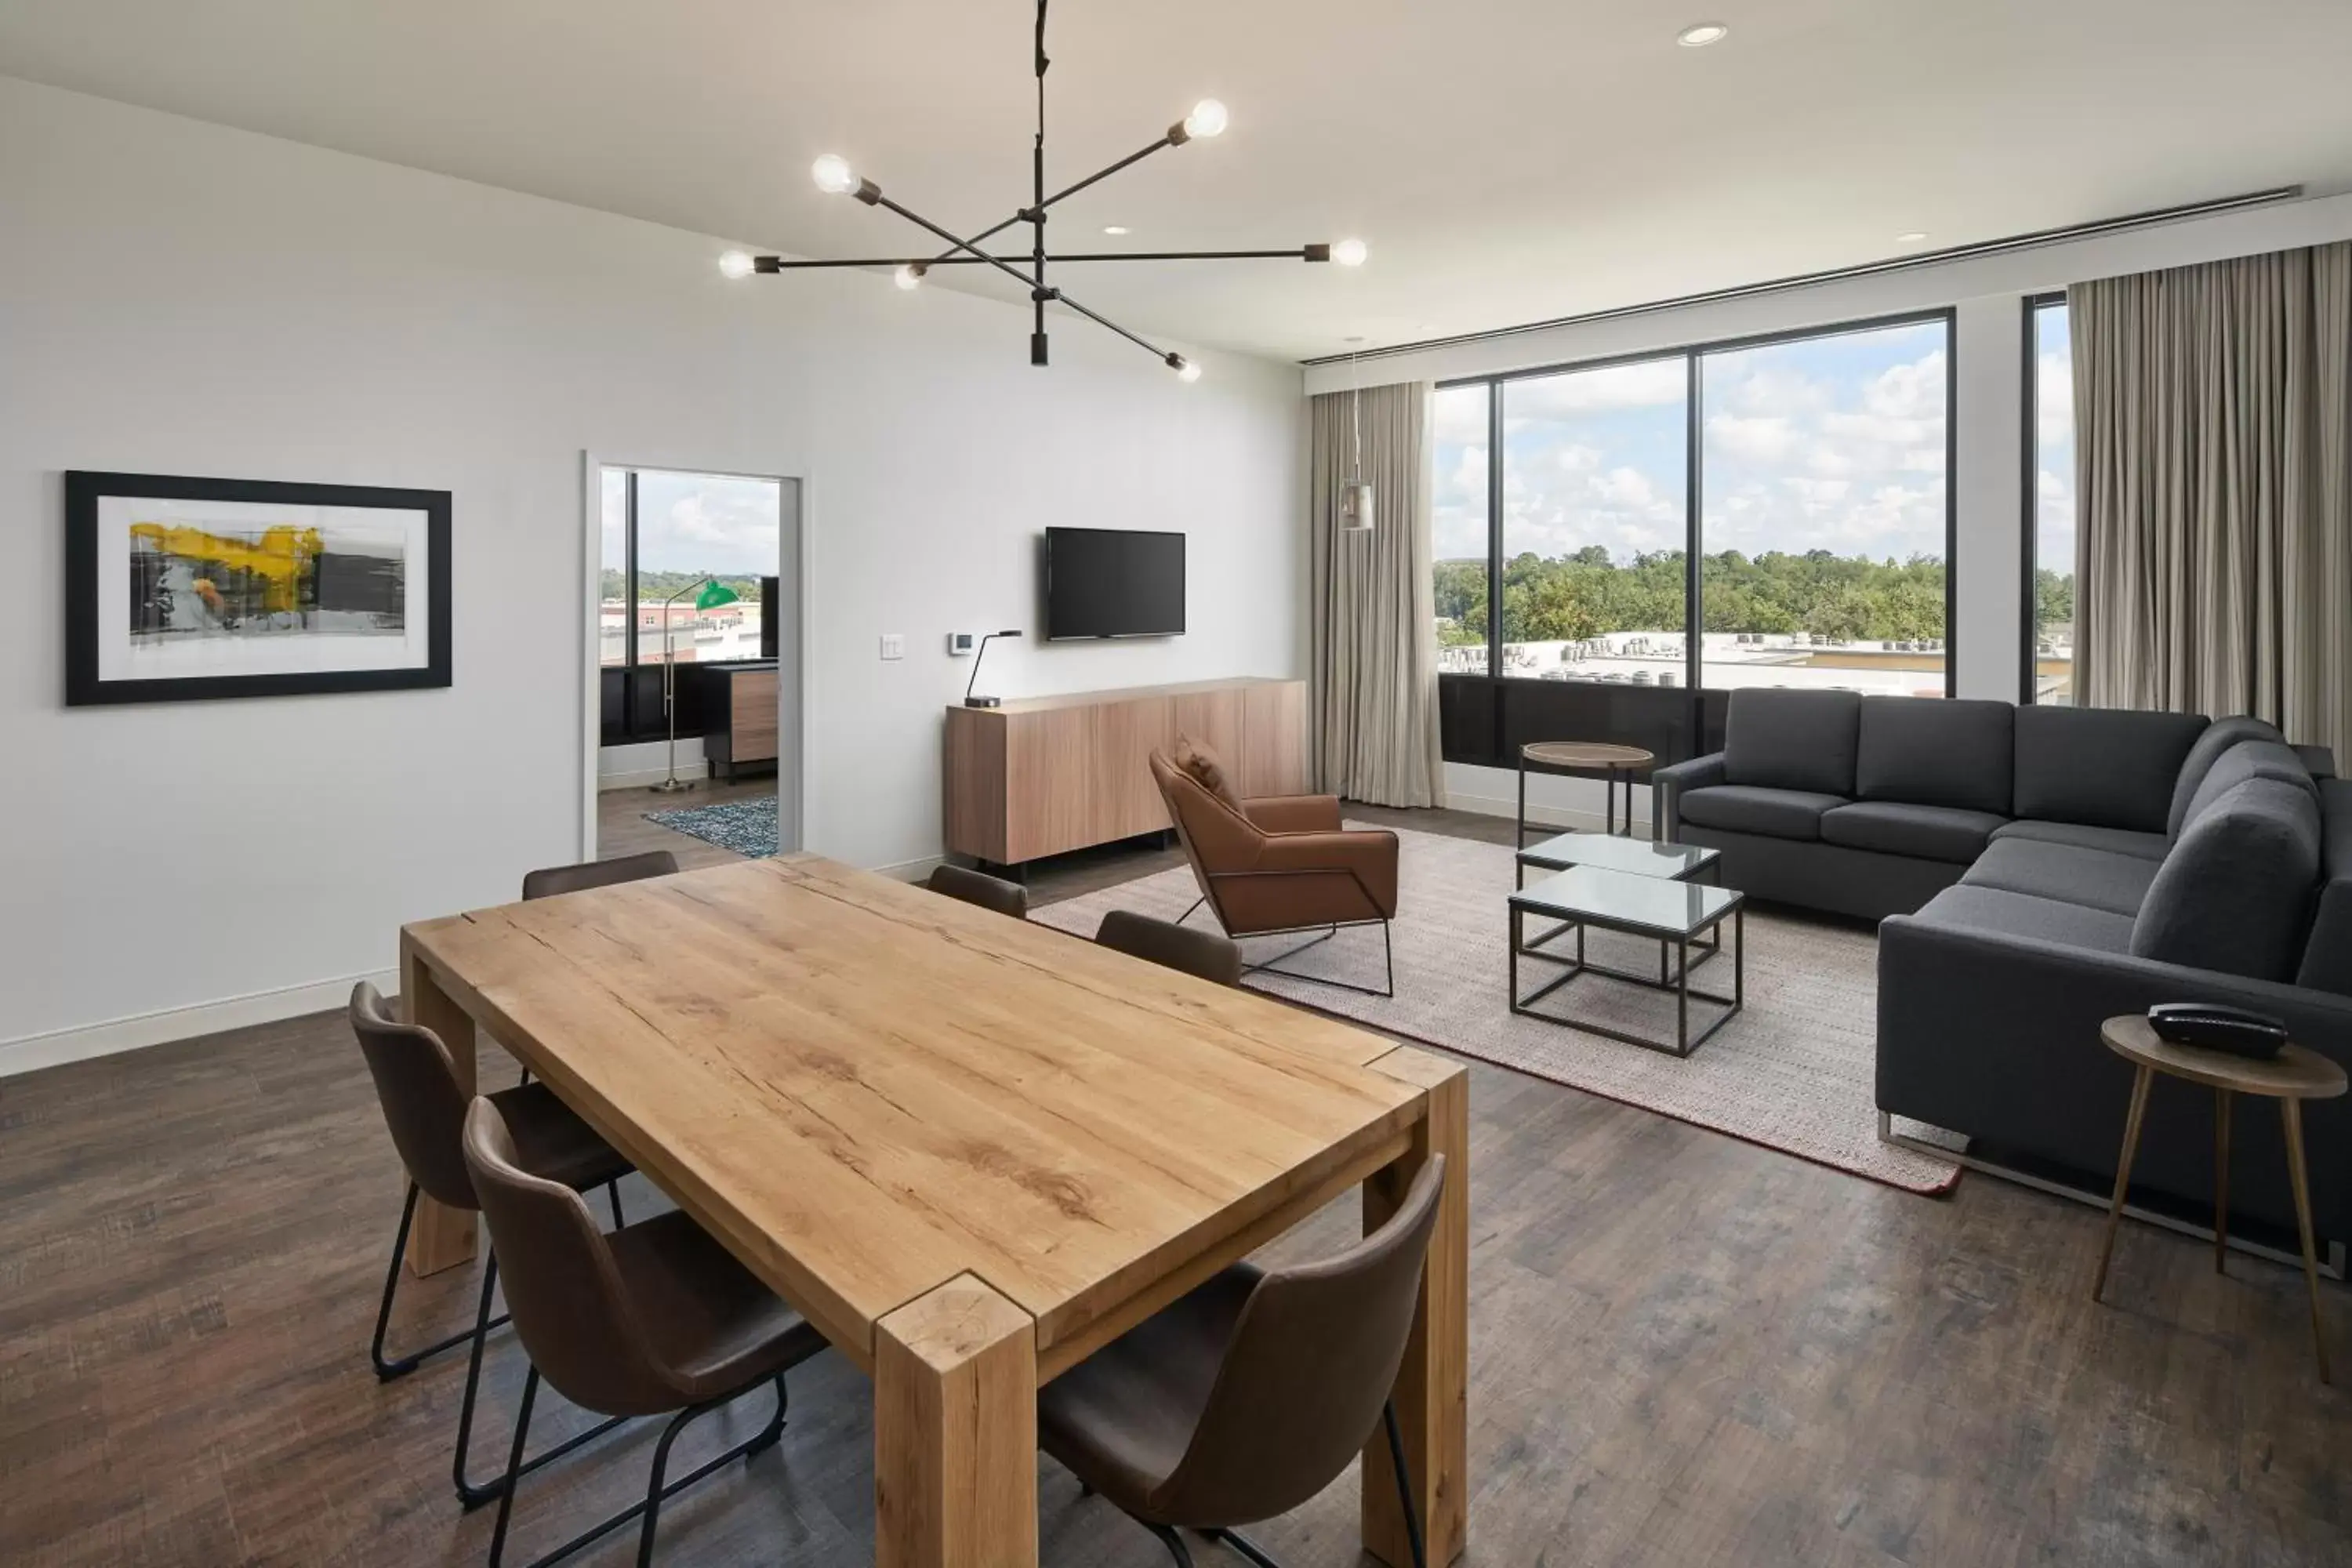
M1703 550L1943 557L1945 327L1879 327L1700 357ZM1435 411L1437 559L1486 555L1484 388ZM1684 548L1679 355L1503 386L1503 550L1618 562Z

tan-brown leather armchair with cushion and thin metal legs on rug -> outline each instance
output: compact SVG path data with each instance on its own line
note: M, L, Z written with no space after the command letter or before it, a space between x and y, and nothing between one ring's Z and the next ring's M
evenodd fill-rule
M1395 950L1388 940L1388 922L1397 917L1397 835L1343 827L1336 795L1275 795L1244 802L1204 748L1178 743L1178 759L1190 766L1152 752L1152 778L1200 884L1192 910L1207 903L1225 936L1235 938L1315 931L1305 943L1263 964L1244 964L1244 971L1338 985L1371 997L1397 994ZM1185 910L1185 917L1192 910ZM1331 940L1348 926L1381 926L1378 990L1279 969L1284 959Z

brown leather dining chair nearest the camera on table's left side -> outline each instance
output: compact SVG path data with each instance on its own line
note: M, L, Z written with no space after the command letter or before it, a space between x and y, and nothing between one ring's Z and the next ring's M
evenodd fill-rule
M506 1300L532 1356L515 1410L513 1458L499 1490L489 1568L506 1556L515 1483L532 1469L522 1448L546 1380L572 1403L623 1420L670 1415L654 1446L644 1500L541 1556L546 1568L633 1519L637 1566L654 1561L661 1505L722 1465L774 1448L783 1436L783 1375L826 1340L750 1269L680 1211L602 1234L581 1194L524 1168L520 1140L494 1098L466 1112L466 1171L482 1199L489 1239L506 1260ZM670 1443L687 1422L755 1387L776 1385L776 1413L753 1436L677 1481L666 1481Z

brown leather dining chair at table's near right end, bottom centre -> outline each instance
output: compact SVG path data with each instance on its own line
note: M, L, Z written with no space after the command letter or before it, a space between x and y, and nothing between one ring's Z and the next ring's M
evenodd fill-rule
M1428 1568L1388 1389L1444 1175L1444 1157L1423 1166L1397 1213L1345 1253L1237 1262L1044 1385L1040 1446L1183 1568L1192 1549L1178 1530L1279 1568L1235 1526L1301 1507L1385 1427L1414 1568Z

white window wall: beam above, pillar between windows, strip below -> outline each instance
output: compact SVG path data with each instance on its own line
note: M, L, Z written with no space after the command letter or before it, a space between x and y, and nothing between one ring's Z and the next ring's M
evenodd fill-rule
M2004 256L1947 261L1825 282L1750 299L1682 306L1609 322L1585 322L1456 343L1369 362L1367 383L1449 381L1512 369L1576 364L1712 343L1722 339L1802 331L1915 310L1957 310L1952 407L1957 468L1955 696L2018 698L2023 675L2023 550L2025 550L2025 299L2091 277L2145 273L2225 256L2352 240L2352 195L2284 202L2211 219L2190 219L2091 240L2070 240ZM1308 393L1345 388L1348 364L1308 371ZM1517 780L1501 769L1446 769L1449 799L1468 809L1510 809ZM1646 790L1642 820L1649 820ZM1602 785L1585 780L1529 783L1529 799L1550 806L1550 820L1599 825Z

